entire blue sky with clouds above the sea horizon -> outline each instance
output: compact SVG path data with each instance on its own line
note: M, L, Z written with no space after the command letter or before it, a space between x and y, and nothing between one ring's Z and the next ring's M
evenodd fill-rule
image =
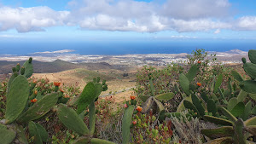
M0 0L0 42L256 40L255 0Z

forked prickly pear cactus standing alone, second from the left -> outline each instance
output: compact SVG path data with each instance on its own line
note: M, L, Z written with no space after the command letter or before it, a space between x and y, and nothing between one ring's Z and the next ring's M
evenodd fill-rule
M96 124L96 107L95 101L97 101L98 96L103 90L107 90L108 86L106 81L103 80L100 84L100 78L94 78L93 82L90 82L85 85L82 94L77 99L75 104L78 105L77 112L71 107L60 103L57 107L57 115L61 120L61 123L64 124L68 129L75 131L80 136L73 142L73 144L79 143L94 143L94 144L113 144L111 141L105 141L102 139L91 138L95 132ZM84 110L89 107L89 129L84 124Z

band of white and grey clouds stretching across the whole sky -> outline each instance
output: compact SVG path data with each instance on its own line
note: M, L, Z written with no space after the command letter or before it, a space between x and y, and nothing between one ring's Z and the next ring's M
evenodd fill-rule
M86 30L132 32L206 32L256 30L256 16L232 20L228 0L72 0L70 11L49 7L0 7L0 31L44 31L49 26L80 26Z

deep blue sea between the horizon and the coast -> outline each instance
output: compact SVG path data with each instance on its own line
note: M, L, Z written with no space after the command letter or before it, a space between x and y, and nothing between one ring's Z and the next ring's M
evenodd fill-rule
M32 55L36 52L72 49L79 55L179 54L195 49L224 52L231 49L256 49L256 42L9 42L0 43L0 55Z

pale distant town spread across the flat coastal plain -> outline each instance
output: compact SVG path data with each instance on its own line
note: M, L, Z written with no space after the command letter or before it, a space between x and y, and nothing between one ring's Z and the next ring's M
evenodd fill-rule
M64 49L53 52L34 53L32 55L0 55L0 60L20 61L27 60L32 56L33 60L50 62L54 60L65 60L72 63L97 63L107 62L110 65L120 66L166 66L172 63L183 63L188 60L186 53L181 54L143 54L143 55L79 55L71 54L72 50ZM216 55L215 57L223 64L241 63L242 57L247 57L246 51L233 49L227 52L208 52ZM211 56L208 59L212 59Z

